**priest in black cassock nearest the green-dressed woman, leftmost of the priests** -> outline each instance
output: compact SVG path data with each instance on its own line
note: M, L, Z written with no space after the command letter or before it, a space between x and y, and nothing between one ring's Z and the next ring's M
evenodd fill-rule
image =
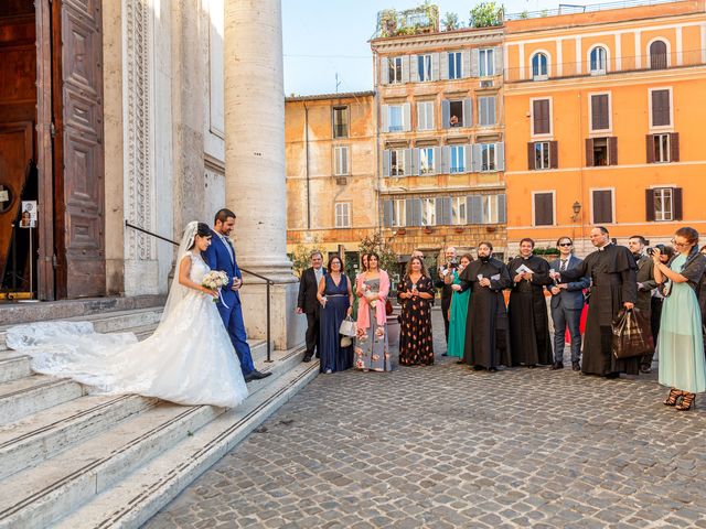
M491 257L493 245L478 245L478 260L471 262L460 276L460 284L452 288L463 292L471 289L471 301L466 323L463 361L473 369L496 371L498 366L510 366L510 335L503 290L510 288L507 267Z

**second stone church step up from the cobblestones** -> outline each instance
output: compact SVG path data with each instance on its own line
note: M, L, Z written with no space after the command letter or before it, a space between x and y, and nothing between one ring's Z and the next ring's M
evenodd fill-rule
M168 402L0 484L0 528L46 527L223 412Z

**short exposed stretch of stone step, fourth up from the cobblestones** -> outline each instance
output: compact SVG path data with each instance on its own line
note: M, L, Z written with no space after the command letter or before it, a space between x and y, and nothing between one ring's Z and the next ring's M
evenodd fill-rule
M84 392L77 382L44 375L0 384L0 425L77 399Z

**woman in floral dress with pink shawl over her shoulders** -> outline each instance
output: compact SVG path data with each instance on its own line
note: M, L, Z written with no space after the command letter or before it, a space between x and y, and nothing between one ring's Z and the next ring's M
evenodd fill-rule
M356 368L364 371L391 371L387 347L387 314L385 301L389 293L389 277L378 268L377 253L367 255L367 270L359 276L356 294L357 338L355 341Z

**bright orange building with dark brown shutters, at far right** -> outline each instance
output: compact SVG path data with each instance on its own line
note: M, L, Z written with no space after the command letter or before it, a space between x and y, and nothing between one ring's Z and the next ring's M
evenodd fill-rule
M507 238L706 234L704 0L505 21Z

